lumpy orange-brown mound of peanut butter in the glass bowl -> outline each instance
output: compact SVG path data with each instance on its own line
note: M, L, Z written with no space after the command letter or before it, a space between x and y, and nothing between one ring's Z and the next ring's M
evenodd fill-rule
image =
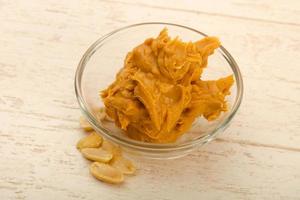
M171 39L167 29L129 52L116 80L101 93L105 110L133 139L174 142L200 116L216 119L227 110L233 77L201 79L216 37L196 42Z

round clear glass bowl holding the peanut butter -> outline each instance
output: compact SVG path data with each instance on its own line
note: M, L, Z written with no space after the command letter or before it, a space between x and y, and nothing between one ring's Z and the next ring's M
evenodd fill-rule
M240 70L233 57L221 46L209 57L208 67L202 75L202 79L234 75L235 83L231 88L231 95L227 98L229 111L217 120L208 122L199 117L187 133L170 144L136 141L122 134L113 122L103 123L98 120L94 110L104 106L99 91L113 82L129 51L146 38L156 37L164 27L168 28L171 37L179 36L183 41L196 41L206 36L195 29L170 23L151 22L126 26L98 39L83 55L75 76L75 92L79 106L94 129L106 139L123 147L125 151L147 158L168 159L184 156L211 141L229 125L243 95Z

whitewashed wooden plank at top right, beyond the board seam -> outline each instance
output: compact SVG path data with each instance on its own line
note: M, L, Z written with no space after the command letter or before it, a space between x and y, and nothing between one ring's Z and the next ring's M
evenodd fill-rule
M138 1L138 0L105 0L126 5L162 10L174 10L186 13L204 14L209 16L222 16L228 20L240 19L262 21L265 23L300 25L300 2L297 0L186 0L186 1Z

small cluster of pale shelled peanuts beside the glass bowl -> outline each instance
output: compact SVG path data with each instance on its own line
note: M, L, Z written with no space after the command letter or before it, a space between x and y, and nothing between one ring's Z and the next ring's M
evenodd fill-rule
M136 167L123 157L119 146L92 131L92 126L83 117L80 118L80 125L88 135L78 141L77 148L86 159L93 161L90 165L90 173L95 178L117 184L124 181L124 174L135 173Z

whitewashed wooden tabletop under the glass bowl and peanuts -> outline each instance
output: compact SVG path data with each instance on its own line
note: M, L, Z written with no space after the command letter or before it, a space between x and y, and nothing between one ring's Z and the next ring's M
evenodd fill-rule
M75 149L74 73L98 37L144 21L220 36L244 100L216 141L107 185ZM300 199L300 1L2 0L0 45L1 200Z

